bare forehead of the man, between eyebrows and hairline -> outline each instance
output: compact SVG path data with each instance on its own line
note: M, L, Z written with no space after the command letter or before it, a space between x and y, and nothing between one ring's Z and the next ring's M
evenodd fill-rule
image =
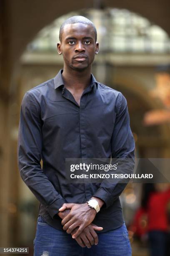
M92 25L84 23L66 24L62 33L62 39L67 37L92 37L95 40L95 31Z

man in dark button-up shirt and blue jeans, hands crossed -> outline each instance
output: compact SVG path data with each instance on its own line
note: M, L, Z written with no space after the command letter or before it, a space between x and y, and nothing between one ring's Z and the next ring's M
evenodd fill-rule
M18 162L23 181L40 201L35 256L131 255L119 200L126 184L65 179L66 158L134 159L125 97L91 74L96 40L90 20L67 19L57 44L63 70L23 98Z

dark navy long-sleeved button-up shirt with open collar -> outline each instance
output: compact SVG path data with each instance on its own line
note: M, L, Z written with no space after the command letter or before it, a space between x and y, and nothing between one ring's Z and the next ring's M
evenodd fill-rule
M103 227L100 232L120 227L124 219L119 195L126 184L67 184L65 159L134 159L134 148L125 97L97 82L92 74L80 106L65 88L62 70L23 97L18 138L20 175L40 202L39 215L54 228L62 230L57 212L63 203L82 204L92 196L105 202L93 221Z

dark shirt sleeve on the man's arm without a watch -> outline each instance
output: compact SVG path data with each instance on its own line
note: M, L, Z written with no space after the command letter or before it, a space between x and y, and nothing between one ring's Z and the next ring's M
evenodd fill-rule
M40 105L31 92L26 92L20 110L18 134L18 167L20 176L37 200L45 205L51 218L65 203L42 171L42 120Z

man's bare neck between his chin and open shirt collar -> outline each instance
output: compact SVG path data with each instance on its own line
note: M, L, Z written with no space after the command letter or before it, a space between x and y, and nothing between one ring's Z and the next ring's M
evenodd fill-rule
M90 84L91 66L85 70L75 70L64 65L62 78L65 86L84 90Z

